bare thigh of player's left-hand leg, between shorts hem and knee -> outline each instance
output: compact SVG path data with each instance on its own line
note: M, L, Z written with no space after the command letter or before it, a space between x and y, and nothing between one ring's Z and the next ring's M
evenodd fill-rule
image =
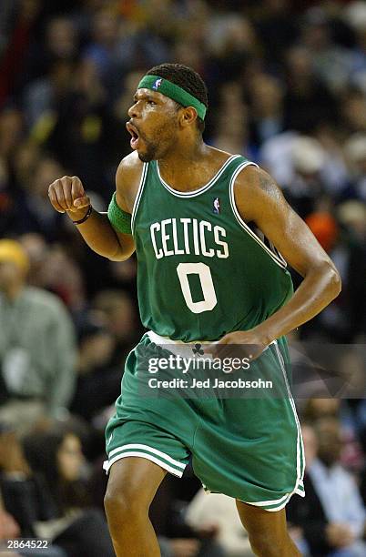
M112 464L106 491L108 503L126 503L133 507L147 507L154 499L167 471L140 457L127 457Z

